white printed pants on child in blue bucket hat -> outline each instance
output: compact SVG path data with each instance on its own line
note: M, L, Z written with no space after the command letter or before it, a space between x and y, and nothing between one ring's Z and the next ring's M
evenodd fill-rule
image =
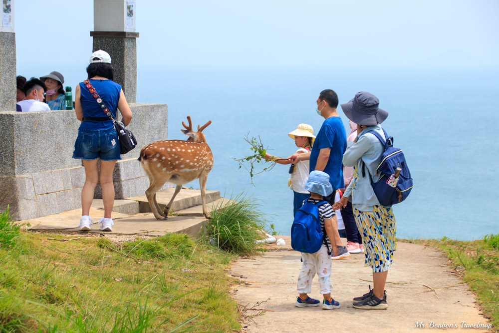
M327 247L322 245L315 253L303 253L303 265L298 276L298 294L310 294L312 280L315 273L319 276L321 294L331 292L331 256L327 254Z

